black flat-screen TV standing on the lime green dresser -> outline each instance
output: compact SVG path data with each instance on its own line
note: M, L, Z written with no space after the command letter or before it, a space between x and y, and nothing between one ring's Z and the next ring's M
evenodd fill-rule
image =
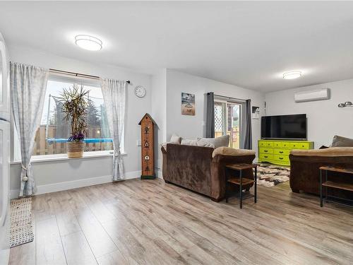
M306 114L261 117L261 139L306 139Z

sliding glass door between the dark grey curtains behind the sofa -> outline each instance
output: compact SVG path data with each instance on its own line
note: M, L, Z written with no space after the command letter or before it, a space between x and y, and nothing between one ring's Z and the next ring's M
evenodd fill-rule
M241 103L215 100L215 137L229 135L229 147L241 146Z

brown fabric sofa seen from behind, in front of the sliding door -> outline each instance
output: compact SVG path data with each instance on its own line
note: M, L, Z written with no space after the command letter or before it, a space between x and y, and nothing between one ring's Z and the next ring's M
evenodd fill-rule
M237 155L225 152L227 155L222 155L217 149L168 143L167 148L161 148L164 181L221 201L225 197L225 165L251 164L255 155L249 155L249 152L239 152ZM252 170L246 171L244 177L253 179ZM244 189L250 187L245 186Z

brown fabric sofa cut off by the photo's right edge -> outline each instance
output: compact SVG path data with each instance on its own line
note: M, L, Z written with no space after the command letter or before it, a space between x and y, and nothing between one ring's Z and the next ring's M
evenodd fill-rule
M294 150L289 155L290 160L290 187L292 192L307 192L311 194L320 194L320 170L321 166L353 168L353 148L352 147L333 147L320 150ZM352 177L342 174L330 173L329 178L339 177L347 178L350 181ZM352 198L352 192L340 192L330 189L333 196L343 196Z

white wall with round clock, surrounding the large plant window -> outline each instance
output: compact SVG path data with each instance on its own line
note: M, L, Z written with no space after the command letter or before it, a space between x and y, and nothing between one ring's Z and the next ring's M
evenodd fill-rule
M152 88L150 75L107 64L91 64L85 61L59 57L25 47L9 46L8 50L11 61L118 80L130 80L131 86L128 86L126 107L126 155L123 159L126 174L129 177L135 175L140 177L140 146L137 146L136 141L140 139L138 122L143 117L143 114L151 111ZM146 88L145 98L137 98L134 95L134 88L138 85ZM40 162L33 163L32 168L37 185L42 186L40 188L44 190L45 185L53 185L58 182L78 181L76 184L90 183L92 182L91 178L94 177L103 177L103 179L109 180L109 175L112 172L112 158L83 158L80 160ZM11 165L11 189L13 190L19 189L19 172L20 164Z

